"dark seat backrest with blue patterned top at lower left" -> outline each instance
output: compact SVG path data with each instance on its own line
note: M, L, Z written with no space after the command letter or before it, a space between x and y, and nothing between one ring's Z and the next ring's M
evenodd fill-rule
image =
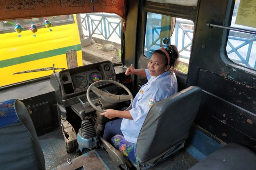
M23 102L0 102L0 136L0 169L45 169L42 148Z

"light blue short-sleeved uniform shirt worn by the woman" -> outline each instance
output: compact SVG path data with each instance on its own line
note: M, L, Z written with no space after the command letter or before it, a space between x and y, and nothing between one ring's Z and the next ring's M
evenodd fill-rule
M133 120L123 119L121 124L124 138L132 143L137 143L142 124L151 106L178 91L174 72L166 71L157 77L151 76L148 69L145 69L145 72L148 82L141 87L132 102L132 109L130 109Z

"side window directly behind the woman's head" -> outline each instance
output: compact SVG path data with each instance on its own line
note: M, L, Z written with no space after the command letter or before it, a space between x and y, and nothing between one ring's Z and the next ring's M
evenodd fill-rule
M151 58L154 50L159 49L160 45L166 47L174 44L180 54L180 59L175 69L187 73L193 30L193 21L147 13L144 55L147 58Z

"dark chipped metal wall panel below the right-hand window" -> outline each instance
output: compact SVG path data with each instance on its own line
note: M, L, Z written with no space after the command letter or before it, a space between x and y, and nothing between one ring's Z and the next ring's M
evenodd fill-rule
M200 70L203 97L195 122L226 143L256 151L256 90L218 74Z

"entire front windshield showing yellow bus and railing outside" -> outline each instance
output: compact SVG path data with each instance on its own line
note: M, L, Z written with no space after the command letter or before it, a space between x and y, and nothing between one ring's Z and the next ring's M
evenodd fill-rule
M121 62L119 16L87 13L47 19L52 24L45 25L45 18L0 22L0 87L51 75L53 66L60 71L99 61Z

